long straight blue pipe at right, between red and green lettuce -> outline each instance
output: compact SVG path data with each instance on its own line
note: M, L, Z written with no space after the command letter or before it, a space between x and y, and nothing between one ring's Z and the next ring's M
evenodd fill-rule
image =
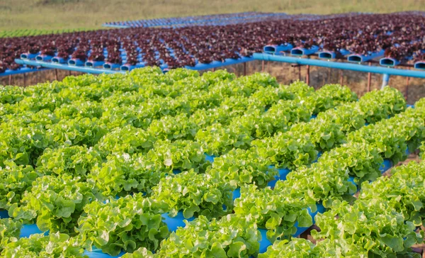
M330 61L324 61L324 60L313 60L313 59L298 58L298 57L284 57L279 55L268 55L268 54L262 54L262 53L254 53L253 57L255 60L288 62L291 64L312 65L317 67L328 67L328 68L344 69L344 70L357 71L357 72L372 72L375 74L388 74L388 75L397 75L397 76L404 76L404 77L425 78L425 72L413 71L413 70L407 70L407 69L375 67L375 66L368 66L368 65L362 65L362 64L330 62Z

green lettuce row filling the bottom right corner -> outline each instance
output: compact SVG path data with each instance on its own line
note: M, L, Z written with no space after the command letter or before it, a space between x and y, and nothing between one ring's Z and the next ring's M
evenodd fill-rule
M317 245L299 238L277 241L259 257L421 257L411 247L424 239L415 232L425 218L424 176L424 162L409 162L391 176L364 182L353 205L338 201L317 215Z

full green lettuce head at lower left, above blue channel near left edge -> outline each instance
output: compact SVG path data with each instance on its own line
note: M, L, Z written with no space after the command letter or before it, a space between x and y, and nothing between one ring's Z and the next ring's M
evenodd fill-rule
M84 206L96 200L94 191L93 184L78 176L41 176L33 182L31 191L23 194L21 203L13 203L8 213L24 223L37 223L42 232L74 235Z

